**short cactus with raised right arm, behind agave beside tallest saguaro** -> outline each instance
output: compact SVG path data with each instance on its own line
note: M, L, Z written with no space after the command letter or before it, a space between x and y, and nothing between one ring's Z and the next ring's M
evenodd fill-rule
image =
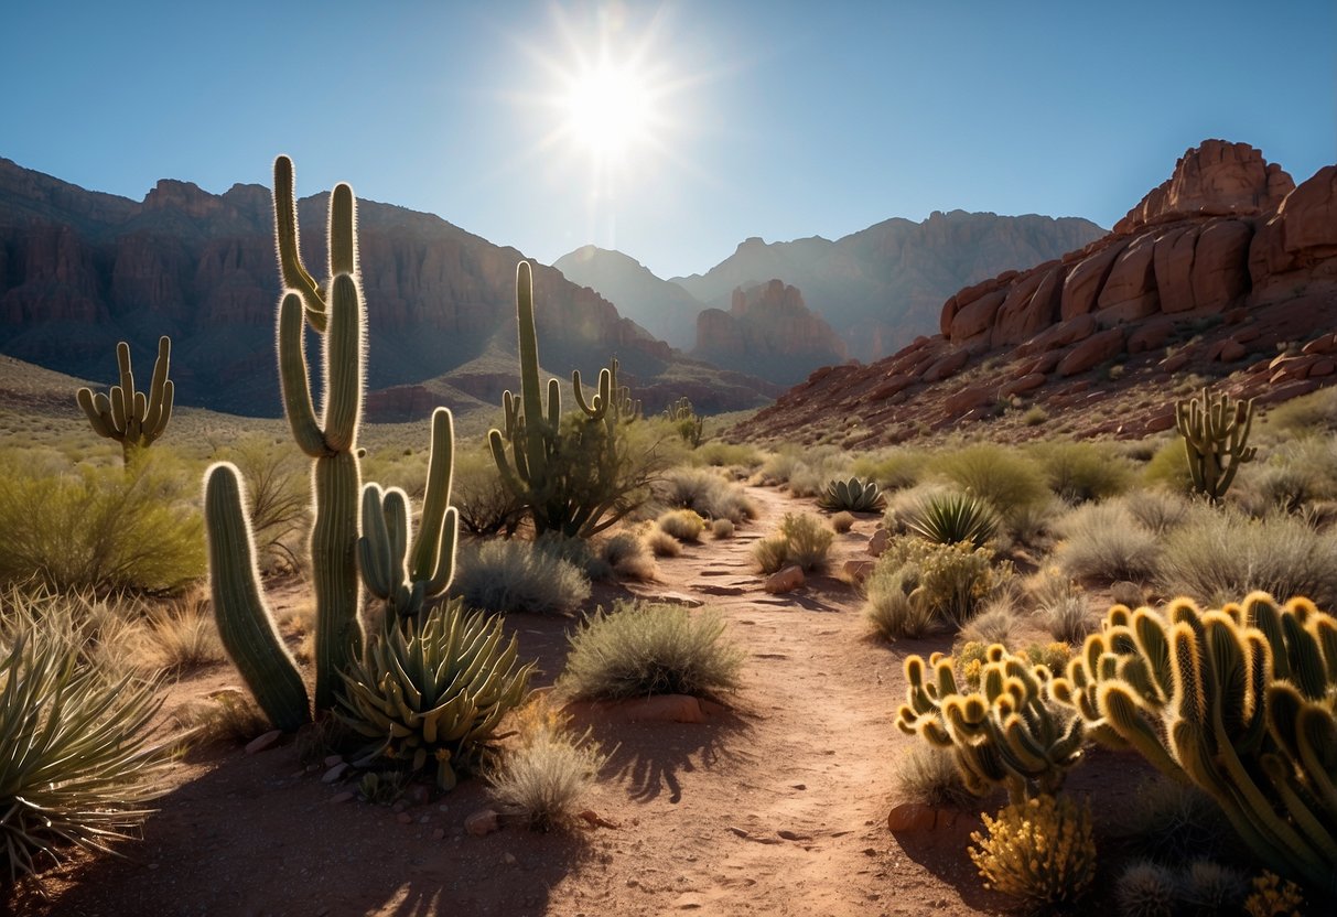
M382 491L376 483L362 488L358 567L368 592L385 603L386 616L417 618L422 603L443 595L455 576L460 513L449 505L453 449L451 412L437 408L432 413L422 519L412 544L410 508L404 491L397 487Z

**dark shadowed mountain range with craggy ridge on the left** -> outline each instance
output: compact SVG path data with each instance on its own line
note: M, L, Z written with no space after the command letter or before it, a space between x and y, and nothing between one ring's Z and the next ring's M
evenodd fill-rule
M325 263L328 194L298 202L302 251ZM368 303L369 410L376 418L425 414L414 388L459 389L460 406L491 398L497 356L515 353L515 265L523 258L444 219L372 201L358 206ZM596 372L610 356L635 389L719 381L715 409L763 402L777 389L675 354L592 290L535 266L544 365L559 376ZM176 398L247 416L281 412L274 360L279 294L267 188L221 195L164 179L142 202L86 191L0 159L0 353L94 380L115 373L115 342L136 356L172 337ZM484 360L489 370L451 381ZM663 382L656 382L663 380ZM644 394L638 390L639 397ZM432 397L432 392L425 393ZM417 397L417 400L414 400ZM694 398L694 402L697 400ZM447 402L449 404L449 401ZM656 409L647 400L647 409Z

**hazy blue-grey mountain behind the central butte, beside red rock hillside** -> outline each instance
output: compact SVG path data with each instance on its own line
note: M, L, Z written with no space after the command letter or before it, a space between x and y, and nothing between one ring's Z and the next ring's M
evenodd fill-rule
M706 274L673 279L727 309L735 289L778 278L804 291L850 356L876 360L933 328L943 299L961 286L1056 258L1103 233L1086 219L953 210L923 223L888 219L834 242L750 238Z

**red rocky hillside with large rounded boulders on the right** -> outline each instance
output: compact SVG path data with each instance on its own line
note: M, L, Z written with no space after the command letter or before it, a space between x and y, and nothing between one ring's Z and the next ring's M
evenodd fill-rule
M877 445L985 422L1003 438L1055 417L1136 437L1174 426L1186 372L1258 404L1337 382L1334 325L1337 166L1297 187L1254 147L1203 140L1114 231L959 290L939 334L820 369L733 436L812 442L840 422L846 445Z

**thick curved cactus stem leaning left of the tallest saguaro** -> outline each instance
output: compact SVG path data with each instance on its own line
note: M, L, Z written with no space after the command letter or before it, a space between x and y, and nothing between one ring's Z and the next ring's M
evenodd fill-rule
M206 473L205 515L214 615L223 646L274 726L294 731L310 720L306 686L259 595L235 467L223 463Z

